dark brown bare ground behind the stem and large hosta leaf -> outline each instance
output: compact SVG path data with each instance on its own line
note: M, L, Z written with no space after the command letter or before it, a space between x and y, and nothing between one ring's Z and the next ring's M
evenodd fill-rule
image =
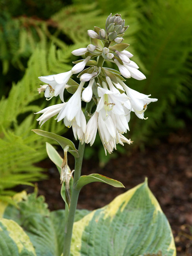
M82 174L100 173L121 181L126 190L148 177L148 184L167 216L175 237L177 255L192 256L192 140L190 130L172 133L159 146L135 150L131 155L112 159L102 169L93 160L84 161ZM70 159L68 160L70 166ZM60 177L49 161L49 180L38 182L51 210L64 208ZM73 166L73 163L72 165ZM80 192L78 208L93 210L105 206L125 189L94 182ZM191 229L191 231L190 231Z

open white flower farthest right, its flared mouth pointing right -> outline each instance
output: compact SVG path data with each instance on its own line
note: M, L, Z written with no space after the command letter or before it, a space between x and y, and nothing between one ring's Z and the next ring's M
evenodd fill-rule
M130 98L129 101L125 102L124 106L132 111L135 112L136 116L138 116L141 119L147 119L144 118L144 112L147 109L147 105L150 102L155 102L157 99L155 98L149 98L151 94L146 95L143 93L139 93L138 91L135 91L131 88L129 88L124 82L119 80L119 83L123 86L127 96Z

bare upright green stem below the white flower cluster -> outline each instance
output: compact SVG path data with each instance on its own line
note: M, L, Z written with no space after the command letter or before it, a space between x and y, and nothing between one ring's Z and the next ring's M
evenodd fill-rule
M79 180L79 177L81 175L84 146L85 146L85 143L83 143L83 145L82 145L81 142L79 142L79 148L78 148L79 158L75 159L74 184L76 183L76 181ZM75 211L76 211L76 207L77 207L78 197L79 197L79 190L75 190L73 188L72 196L71 196L71 204L70 204L69 214L68 214L68 220L67 220L66 227L64 230L63 256L70 255L72 230L73 230L73 224L74 224Z

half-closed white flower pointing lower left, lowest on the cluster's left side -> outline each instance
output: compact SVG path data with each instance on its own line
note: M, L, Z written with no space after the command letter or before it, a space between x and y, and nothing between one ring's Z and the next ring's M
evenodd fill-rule
M65 104L66 103L61 103L61 104L56 104L56 105L53 105L53 106L49 106L48 108L42 109L41 111L35 113L35 114L43 113L37 119L37 121L39 121L39 124L43 125L51 117L58 114Z

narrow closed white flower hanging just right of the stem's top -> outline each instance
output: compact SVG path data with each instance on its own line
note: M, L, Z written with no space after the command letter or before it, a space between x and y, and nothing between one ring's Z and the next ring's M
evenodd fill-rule
M98 125L98 112L95 111L91 116L90 120L87 123L86 134L85 134L85 143L90 143L92 146L95 137L97 135L97 125Z

